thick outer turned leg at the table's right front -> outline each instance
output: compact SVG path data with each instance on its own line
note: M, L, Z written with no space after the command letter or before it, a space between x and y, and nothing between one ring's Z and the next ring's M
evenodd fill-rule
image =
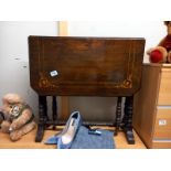
M126 133L126 138L129 145L135 143L135 136L132 132L132 107L133 107L133 96L126 97L122 129Z

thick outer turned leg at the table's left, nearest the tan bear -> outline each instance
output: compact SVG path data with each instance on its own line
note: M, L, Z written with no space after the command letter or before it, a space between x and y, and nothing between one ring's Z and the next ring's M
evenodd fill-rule
M44 136L44 130L47 121L46 96L39 96L39 125L35 137L35 142L41 142Z

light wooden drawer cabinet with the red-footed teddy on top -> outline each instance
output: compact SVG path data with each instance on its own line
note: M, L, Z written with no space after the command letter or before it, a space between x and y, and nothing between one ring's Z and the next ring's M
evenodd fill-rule
M148 148L171 148L171 64L142 70L141 89L135 96L133 128Z

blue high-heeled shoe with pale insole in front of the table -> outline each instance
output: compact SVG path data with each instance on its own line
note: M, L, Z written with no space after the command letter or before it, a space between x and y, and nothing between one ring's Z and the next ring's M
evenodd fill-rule
M58 149L71 148L72 142L81 125L82 125L82 118L79 111L72 113L63 131L50 137L44 143L46 145L56 143Z

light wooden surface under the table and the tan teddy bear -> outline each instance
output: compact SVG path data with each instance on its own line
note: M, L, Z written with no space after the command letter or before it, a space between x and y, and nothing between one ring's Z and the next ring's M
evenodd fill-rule
M106 128L106 127L103 127ZM106 128L111 129L111 128ZM113 128L114 129L114 128ZM55 146L44 145L42 142L34 142L36 130L25 135L21 140L12 142L9 139L9 135L0 132L0 149L55 149ZM43 140L46 140L50 136L54 135L54 130L45 130ZM136 145L128 145L122 131L118 132L115 138L115 143L117 149L146 149L146 146L140 140L140 138L135 133Z

